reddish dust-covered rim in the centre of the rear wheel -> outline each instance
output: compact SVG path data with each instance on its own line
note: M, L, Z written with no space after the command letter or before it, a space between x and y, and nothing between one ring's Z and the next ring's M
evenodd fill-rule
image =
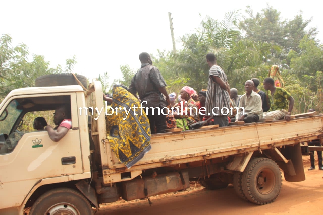
M273 191L275 187L275 174L270 169L263 169L257 175L257 190L265 195Z

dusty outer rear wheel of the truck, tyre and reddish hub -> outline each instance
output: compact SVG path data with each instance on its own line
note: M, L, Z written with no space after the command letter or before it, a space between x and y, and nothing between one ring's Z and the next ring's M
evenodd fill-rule
M242 174L242 190L245 197L255 204L275 201L282 188L282 174L278 165L268 158L255 158Z

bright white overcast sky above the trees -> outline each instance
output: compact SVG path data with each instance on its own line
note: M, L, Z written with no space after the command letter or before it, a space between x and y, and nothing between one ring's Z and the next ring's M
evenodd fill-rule
M121 78L120 66L140 67L138 55L172 50L168 12L172 13L175 39L198 28L206 15L222 20L225 12L250 5L260 12L268 1L0 1L0 35L10 34L13 45L25 43L30 54L43 55L51 67L76 56L74 72L97 78L108 72L110 80ZM317 1L303 4L271 0L282 18L313 17L317 27L323 13ZM318 39L323 41L323 34ZM180 43L176 43L180 49ZM32 60L30 57L29 60Z

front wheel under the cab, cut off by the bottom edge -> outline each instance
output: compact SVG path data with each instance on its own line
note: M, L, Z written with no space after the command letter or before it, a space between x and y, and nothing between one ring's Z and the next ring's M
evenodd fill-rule
M83 195L70 188L58 188L40 196L29 213L29 215L44 214L93 215L94 213L90 203Z

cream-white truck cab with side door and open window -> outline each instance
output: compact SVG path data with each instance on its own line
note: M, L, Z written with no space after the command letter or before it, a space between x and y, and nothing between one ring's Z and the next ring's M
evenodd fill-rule
M53 142L47 131L27 126L31 115L52 122L55 108L62 104L71 108L72 128L59 142ZM85 106L84 91L78 85L22 88L4 99L0 105L0 214L21 214L24 202L41 186L91 177L88 121L79 113L79 107Z

